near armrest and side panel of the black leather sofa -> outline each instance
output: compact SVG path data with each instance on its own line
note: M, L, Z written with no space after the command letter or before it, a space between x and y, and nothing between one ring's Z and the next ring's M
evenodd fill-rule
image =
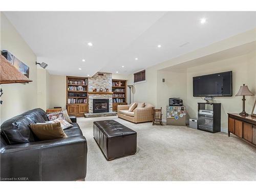
M86 164L83 136L7 145L1 152L1 178L75 181L86 177Z

